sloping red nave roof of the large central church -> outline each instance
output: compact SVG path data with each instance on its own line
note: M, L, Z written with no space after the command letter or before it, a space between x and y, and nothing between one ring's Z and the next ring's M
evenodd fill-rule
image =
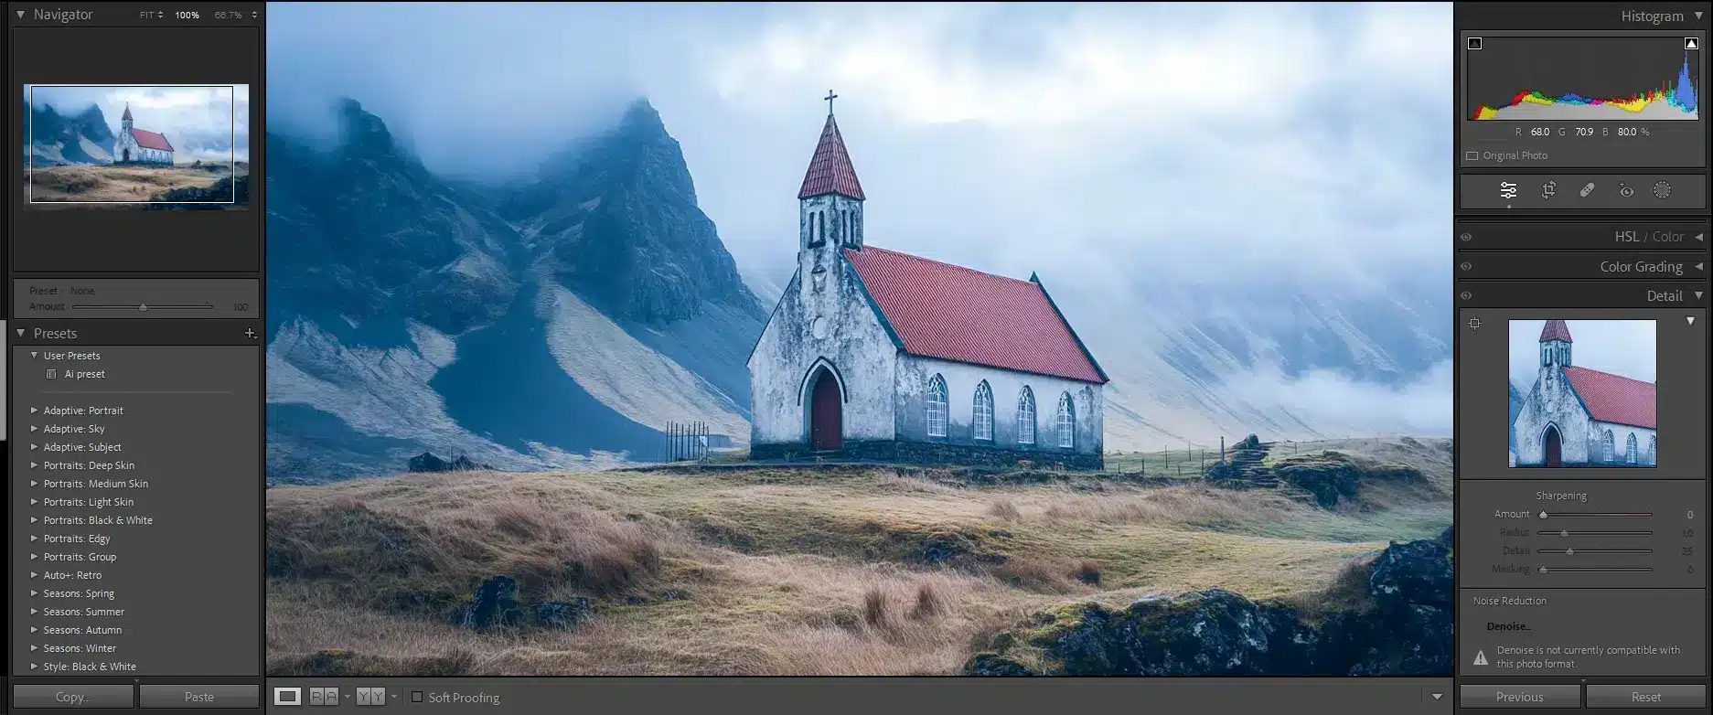
M1107 381L1038 282L872 246L846 248L845 258L904 342L904 352Z

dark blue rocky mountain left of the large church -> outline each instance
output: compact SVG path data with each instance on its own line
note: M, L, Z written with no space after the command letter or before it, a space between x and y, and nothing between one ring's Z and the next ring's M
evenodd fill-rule
M749 438L762 308L646 103L476 193L355 101L315 149L269 137L269 476L653 458L666 422ZM497 200L505 197L505 200Z

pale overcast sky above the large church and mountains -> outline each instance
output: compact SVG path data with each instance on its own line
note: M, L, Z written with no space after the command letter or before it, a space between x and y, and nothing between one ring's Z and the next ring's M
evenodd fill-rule
M281 3L269 111L353 96L432 169L505 174L644 94L754 267L791 263L831 87L875 245L1379 282L1446 260L1449 7Z

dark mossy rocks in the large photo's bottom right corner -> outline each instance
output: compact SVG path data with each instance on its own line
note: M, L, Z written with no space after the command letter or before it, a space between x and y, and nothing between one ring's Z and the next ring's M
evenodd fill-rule
M1069 606L1006 631L971 676L1447 676L1451 549L1391 544L1372 564L1369 606L1307 623L1295 606L1213 588L1125 609ZM1019 655L1035 657L1019 657ZM1026 667L1024 662L1040 662Z

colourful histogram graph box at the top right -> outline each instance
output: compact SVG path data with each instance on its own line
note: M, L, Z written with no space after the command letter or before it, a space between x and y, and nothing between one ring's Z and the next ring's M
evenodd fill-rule
M1490 120L1694 121L1701 39L1466 38L1465 116Z

